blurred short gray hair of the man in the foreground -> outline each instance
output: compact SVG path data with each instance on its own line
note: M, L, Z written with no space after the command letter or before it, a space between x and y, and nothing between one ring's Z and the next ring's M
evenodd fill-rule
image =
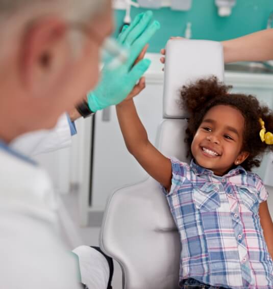
M0 0L0 62L19 39L20 31L43 16L57 16L68 22L89 22L100 14L110 0ZM71 32L72 48L79 50L83 37ZM4 45L6 44L6 45ZM5 46L5 47L4 47Z

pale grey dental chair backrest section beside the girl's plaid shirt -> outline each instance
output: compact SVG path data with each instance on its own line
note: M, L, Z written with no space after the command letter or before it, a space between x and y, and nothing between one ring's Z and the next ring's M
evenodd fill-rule
M178 232L159 184L152 178L112 194L100 246L119 262L123 288L178 287Z

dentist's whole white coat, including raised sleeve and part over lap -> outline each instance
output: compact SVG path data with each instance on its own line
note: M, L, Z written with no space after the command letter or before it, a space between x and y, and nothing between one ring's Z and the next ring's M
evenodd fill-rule
M54 129L23 135L9 147L35 155L70 144L64 114ZM0 163L0 288L78 289L82 280L90 289L106 289L107 260L89 246L73 250L79 276L78 261L61 239L58 198L46 172L2 149Z

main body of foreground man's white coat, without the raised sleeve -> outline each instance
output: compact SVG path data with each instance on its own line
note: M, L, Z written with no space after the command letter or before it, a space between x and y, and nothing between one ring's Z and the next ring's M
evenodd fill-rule
M3 149L0 163L0 288L80 288L47 174Z

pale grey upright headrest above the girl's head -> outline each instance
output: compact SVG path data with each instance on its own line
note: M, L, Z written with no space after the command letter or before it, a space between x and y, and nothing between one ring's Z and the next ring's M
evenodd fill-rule
M224 81L224 54L219 42L171 39L166 45L163 117L186 118L179 106L179 90L199 78L215 75Z

